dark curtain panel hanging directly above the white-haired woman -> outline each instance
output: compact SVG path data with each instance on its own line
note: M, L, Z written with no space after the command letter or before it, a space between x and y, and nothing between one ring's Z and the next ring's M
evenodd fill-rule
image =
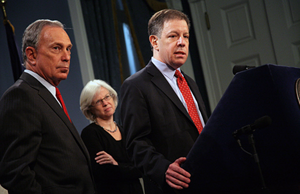
M81 0L81 7L94 76L96 79L106 81L119 93L122 66L118 58L113 1ZM114 119L120 122L118 107Z

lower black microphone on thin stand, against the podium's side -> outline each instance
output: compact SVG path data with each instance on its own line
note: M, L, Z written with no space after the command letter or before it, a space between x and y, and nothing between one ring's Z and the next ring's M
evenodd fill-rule
M256 128L264 128L270 125L272 122L271 118L268 115L262 116L254 121L252 124L248 124L246 126L241 127L240 129L237 129L232 132L232 135L234 138L236 138L237 135L240 134L250 134L253 132Z

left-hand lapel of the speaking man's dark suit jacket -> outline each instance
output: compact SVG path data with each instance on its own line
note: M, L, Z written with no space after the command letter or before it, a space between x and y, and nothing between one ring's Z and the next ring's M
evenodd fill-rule
M167 80L164 78L164 76L161 74L161 72L155 67L155 65L150 61L148 65L146 66L146 70L149 74L151 74L153 77L151 81L179 108L179 110L192 122L188 112L184 108L182 102L170 86L170 84L167 82Z

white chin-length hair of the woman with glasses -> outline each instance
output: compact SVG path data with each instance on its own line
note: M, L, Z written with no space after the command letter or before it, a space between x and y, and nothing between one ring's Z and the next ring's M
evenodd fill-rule
M108 90L108 92L112 95L115 107L117 106L117 93L108 83L100 79L88 81L80 94L80 110L84 116L91 121L95 120L94 115L90 111L91 103L95 94L100 91L101 87Z

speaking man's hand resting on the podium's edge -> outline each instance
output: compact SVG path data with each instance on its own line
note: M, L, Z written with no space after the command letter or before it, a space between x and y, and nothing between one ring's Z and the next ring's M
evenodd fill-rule
M186 157L180 157L168 166L165 172L165 181L170 187L175 189L188 187L190 173L180 167L185 160Z

